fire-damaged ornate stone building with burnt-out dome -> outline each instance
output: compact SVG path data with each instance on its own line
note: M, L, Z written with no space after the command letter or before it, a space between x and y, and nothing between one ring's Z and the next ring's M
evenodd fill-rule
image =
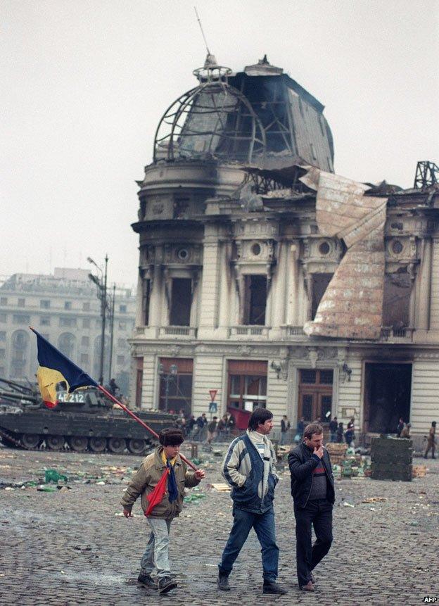
M137 406L257 406L418 441L438 412L439 192L339 177L322 103L208 55L138 182ZM434 180L434 179L433 179ZM134 399L134 398L133 398Z

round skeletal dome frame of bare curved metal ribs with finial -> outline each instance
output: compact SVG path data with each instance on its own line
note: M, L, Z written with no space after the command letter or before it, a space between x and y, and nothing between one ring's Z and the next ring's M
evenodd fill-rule
M195 70L200 84L163 114L154 139L158 160L222 160L251 163L265 157L265 131L250 101L227 82L229 68L208 55Z

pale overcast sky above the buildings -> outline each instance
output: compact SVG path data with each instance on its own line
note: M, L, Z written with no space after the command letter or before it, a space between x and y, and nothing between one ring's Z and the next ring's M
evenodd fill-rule
M136 282L138 187L205 47L267 53L321 101L336 172L412 187L439 163L439 0L2 0L0 275L87 267Z

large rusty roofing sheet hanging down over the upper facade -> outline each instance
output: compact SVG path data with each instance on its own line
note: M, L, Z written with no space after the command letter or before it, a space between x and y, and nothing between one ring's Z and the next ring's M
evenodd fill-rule
M324 236L343 239L347 251L305 334L378 339L383 317L387 198L364 197L367 185L312 169L301 180L317 191L316 219Z

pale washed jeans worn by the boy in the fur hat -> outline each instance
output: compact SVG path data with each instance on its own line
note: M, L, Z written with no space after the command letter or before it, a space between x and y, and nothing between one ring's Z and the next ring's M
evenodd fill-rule
M169 534L171 520L155 517L147 517L146 519L151 526L151 534L145 553L141 558L141 572L142 574L151 574L155 567L158 579L163 576L170 576Z

